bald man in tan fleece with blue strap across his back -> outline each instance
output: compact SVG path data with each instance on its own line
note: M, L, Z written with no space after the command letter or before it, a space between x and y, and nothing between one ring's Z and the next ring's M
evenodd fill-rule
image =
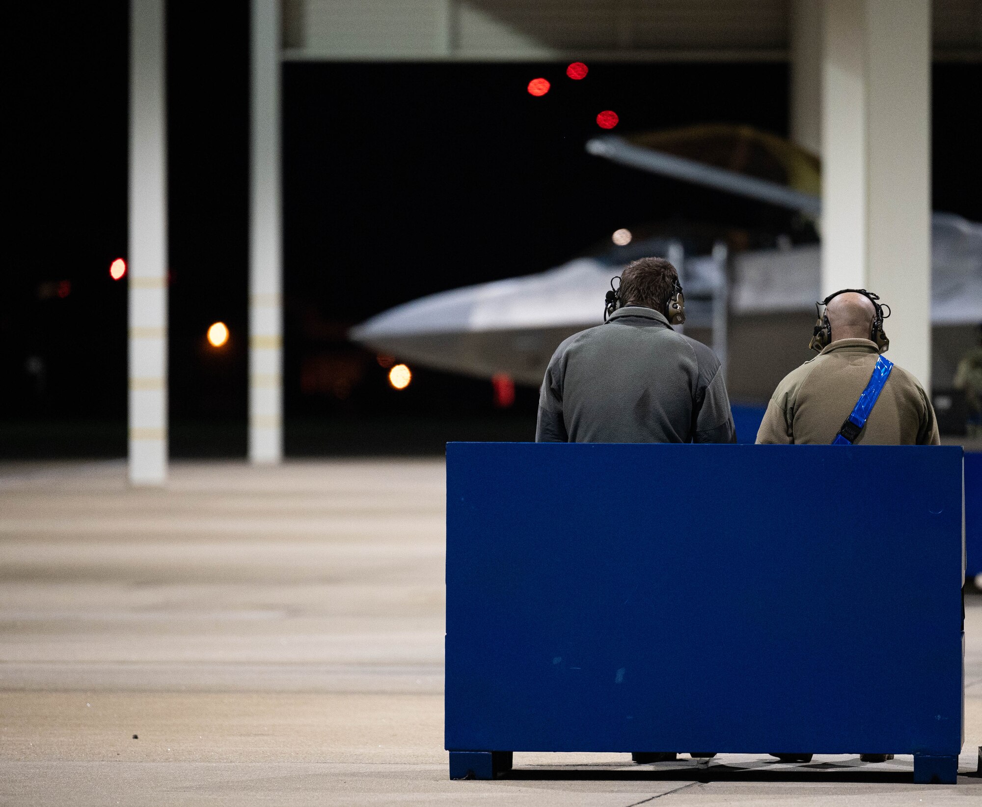
M828 344L778 384L757 432L758 443L827 445L835 440L873 375L880 355L875 340L880 337L881 344L889 344L868 293L846 290L826 300L825 319L820 323L831 331L824 335ZM852 442L940 442L931 401L913 375L894 365L866 425Z

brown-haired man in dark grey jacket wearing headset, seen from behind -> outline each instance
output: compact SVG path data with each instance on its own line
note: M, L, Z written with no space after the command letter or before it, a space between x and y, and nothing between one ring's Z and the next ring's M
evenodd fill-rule
M684 321L675 266L635 260L618 298L604 324L573 334L553 354L536 441L735 442L719 360L669 323Z

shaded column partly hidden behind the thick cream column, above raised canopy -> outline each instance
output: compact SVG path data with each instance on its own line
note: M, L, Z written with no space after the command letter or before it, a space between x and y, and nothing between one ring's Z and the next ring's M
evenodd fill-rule
M822 150L822 0L791 2L791 141Z

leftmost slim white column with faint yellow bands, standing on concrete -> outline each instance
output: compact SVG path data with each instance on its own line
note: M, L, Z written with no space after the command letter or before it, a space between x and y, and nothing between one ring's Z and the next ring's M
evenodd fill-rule
M164 0L133 0L130 42L130 481L167 480Z

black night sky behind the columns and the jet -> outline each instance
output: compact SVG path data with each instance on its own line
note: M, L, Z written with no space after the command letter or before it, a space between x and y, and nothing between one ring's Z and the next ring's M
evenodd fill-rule
M171 406L175 419L244 424L247 7L209 19L170 6ZM108 265L126 255L127 4L27 13L50 35L25 49L12 83L0 417L122 421L126 290ZM345 327L422 294L540 271L621 226L774 223L765 205L614 166L583 143L608 108L624 134L734 122L785 135L787 66L590 67L572 82L565 64L285 65L288 418L493 414L485 382L421 373L411 395L390 394ZM541 98L524 89L537 76L553 84ZM935 67L934 206L976 220L978 125L965 110L980 79L979 65ZM45 285L63 280L64 298ZM221 356L203 342L215 319L233 334ZM348 374L353 391L331 393L323 372ZM533 403L519 395L523 412Z

